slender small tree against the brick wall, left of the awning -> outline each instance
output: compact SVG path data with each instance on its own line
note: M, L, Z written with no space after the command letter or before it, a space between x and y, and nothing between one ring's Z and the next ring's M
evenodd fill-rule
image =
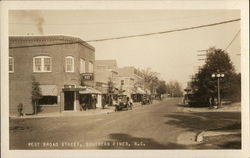
M32 76L32 92L31 92L31 101L33 106L33 114L41 112L41 106L39 105L39 99L42 98L41 89L39 87L39 82L36 81L35 77Z

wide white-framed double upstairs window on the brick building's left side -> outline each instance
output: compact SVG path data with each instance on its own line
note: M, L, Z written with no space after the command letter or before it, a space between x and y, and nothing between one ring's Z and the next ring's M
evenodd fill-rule
M52 60L48 56L38 56L33 58L34 72L51 72Z

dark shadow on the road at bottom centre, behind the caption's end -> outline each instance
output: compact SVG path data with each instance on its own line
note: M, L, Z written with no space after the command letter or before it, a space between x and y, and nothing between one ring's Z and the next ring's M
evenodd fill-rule
M185 149L184 145L175 143L160 144L150 138L133 137L125 133L112 133L109 140L103 143L110 146L101 146L100 149Z

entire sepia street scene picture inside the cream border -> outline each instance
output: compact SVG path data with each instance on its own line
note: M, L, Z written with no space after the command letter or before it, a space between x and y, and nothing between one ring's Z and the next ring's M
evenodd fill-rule
M8 16L10 150L242 149L240 10Z

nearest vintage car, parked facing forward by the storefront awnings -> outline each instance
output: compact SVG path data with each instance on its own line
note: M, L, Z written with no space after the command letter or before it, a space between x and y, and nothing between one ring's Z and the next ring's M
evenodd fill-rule
M129 96L127 95L118 95L117 100L115 101L115 111L119 110L132 110L132 100Z

